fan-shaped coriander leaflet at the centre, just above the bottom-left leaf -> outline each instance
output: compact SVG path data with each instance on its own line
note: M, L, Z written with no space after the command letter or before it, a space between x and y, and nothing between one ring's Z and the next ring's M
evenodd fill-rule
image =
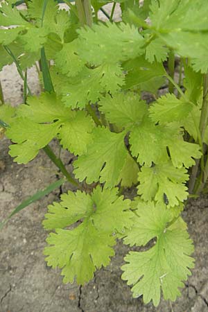
M107 128L95 128L93 142L87 152L78 157L74 164L76 177L87 183L105 182L105 187L119 184L128 150L125 148L123 132L110 132ZM105 166L104 166L105 165Z

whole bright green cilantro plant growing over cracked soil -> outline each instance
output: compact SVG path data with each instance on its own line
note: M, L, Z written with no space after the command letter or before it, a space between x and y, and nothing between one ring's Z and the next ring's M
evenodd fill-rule
M121 0L108 15L107 0L66 0L69 10L53 0L20 2L26 10L13 0L0 8L1 69L15 62L24 80L18 107L3 103L1 92L1 132L15 162L26 164L43 149L77 187L48 207L48 265L62 269L64 283L83 285L110 263L121 239L138 247L121 267L133 297L155 306L161 295L174 301L194 266L181 213L187 198L206 191L208 177L208 6ZM98 19L99 10L108 21ZM40 96L27 83L34 64ZM74 177L51 150L54 138L77 156ZM137 196L124 199L131 187Z

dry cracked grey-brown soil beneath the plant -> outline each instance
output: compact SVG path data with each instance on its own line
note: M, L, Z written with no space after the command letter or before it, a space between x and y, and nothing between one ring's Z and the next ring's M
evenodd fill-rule
M34 94L40 92L34 69L28 73ZM0 80L6 102L22 101L22 82L15 66L5 67ZM12 87L11 87L12 86ZM6 218L22 200L59 177L51 161L40 154L27 165L12 162L10 141L0 141L0 220ZM57 150L56 142L52 142ZM72 155L62 158L71 171ZM39 202L15 215L0 233L0 312L208 312L208 198L190 200L185 211L189 233L196 250L196 267L175 303L161 301L143 304L132 299L130 288L121 280L121 264L128 251L119 243L110 266L97 271L86 286L62 284L60 270L46 266L43 249L47 232L42 228L46 206L59 200L60 193L73 189L69 184L53 191Z

